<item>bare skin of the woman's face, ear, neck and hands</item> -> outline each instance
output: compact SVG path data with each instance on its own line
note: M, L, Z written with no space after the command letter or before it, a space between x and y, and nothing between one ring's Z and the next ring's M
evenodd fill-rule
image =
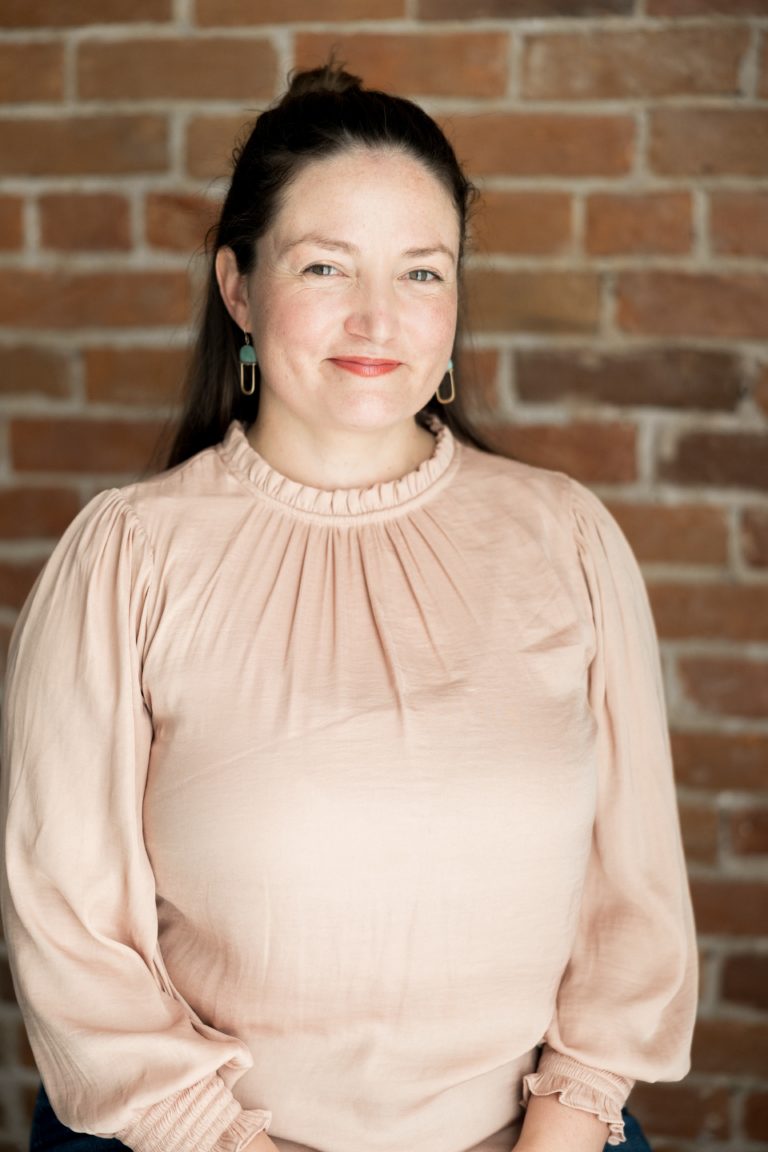
M222 300L261 371L249 439L273 468L313 487L365 487L432 455L413 417L451 355L458 237L450 197L418 160L358 149L299 173L250 276L219 251ZM607 1136L590 1113L535 1097L516 1152L602 1152ZM289 1147L260 1132L248 1152Z

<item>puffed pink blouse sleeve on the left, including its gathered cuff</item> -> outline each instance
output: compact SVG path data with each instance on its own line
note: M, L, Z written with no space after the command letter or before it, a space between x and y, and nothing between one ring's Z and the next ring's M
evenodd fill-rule
M18 1002L60 1120L138 1152L237 1152L268 1112L252 1063L178 996L158 950L142 833L152 552L117 491L74 521L12 643L2 730L2 911Z

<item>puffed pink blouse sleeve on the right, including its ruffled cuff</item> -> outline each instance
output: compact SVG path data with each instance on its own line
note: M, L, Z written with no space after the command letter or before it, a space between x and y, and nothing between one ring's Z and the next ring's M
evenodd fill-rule
M634 1081L689 1070L697 950L648 599L616 522L572 484L594 622L590 707L598 741L592 850L576 938L524 1098L557 1093L621 1144Z

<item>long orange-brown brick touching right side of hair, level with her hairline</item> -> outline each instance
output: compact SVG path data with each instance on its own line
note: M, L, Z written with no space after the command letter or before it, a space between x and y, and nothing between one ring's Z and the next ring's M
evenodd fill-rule
M631 116L487 112L444 127L478 176L621 176L634 154Z

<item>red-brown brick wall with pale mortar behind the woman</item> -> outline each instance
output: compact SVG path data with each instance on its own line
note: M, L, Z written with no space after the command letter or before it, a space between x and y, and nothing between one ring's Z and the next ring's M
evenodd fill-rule
M318 13L330 13L318 22ZM593 485L662 638L702 955L656 1152L768 1150L767 0L2 0L0 634L172 409L231 139L332 44L485 190L477 415ZM0 1152L36 1081L0 969Z

